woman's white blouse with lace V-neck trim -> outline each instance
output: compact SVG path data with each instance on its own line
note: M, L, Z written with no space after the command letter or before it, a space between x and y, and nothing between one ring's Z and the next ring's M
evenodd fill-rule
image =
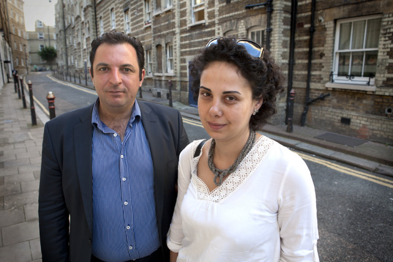
M261 136L236 171L209 192L197 177L200 141L180 154L167 238L177 262L319 261L315 190L303 159Z

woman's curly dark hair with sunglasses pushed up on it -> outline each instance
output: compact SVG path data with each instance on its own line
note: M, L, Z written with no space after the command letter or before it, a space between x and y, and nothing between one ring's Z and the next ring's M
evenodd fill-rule
M249 81L253 89L253 99L263 99L259 112L250 119L250 128L260 129L277 112L276 96L284 91L284 76L280 66L275 63L269 51L265 50L261 59L255 58L246 51L244 46L238 45L236 39L222 37L218 39L217 44L206 47L192 60L191 88L195 101L198 101L200 76L206 66L214 61L235 65L240 74Z

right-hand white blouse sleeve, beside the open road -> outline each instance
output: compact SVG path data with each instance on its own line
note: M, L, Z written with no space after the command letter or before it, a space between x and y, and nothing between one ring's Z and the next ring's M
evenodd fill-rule
M286 168L280 188L278 222L282 262L318 262L315 189L306 163L297 154Z

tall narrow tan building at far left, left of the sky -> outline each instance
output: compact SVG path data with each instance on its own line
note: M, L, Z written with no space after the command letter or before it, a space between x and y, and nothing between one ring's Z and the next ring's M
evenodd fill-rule
M13 68L18 74L28 71L28 41L25 28L25 14L22 0L8 0L8 22Z

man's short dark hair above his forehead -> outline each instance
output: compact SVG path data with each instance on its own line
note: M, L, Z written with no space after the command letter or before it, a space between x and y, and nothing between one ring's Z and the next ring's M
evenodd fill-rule
M134 36L129 36L124 32L109 31L98 36L91 42L90 64L93 67L95 52L101 44L108 45L121 45L130 44L137 52L138 65L139 65L139 79L142 80L142 69L144 67L144 50L142 43ZM91 76L93 77L93 69L91 69Z

